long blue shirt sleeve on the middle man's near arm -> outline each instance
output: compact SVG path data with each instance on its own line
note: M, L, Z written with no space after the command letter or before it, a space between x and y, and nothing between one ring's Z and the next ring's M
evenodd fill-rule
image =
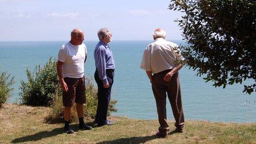
M104 49L98 49L95 52L95 61L97 61L97 70L99 73L99 79L103 81L103 84L108 83L108 79L106 78L106 51Z

